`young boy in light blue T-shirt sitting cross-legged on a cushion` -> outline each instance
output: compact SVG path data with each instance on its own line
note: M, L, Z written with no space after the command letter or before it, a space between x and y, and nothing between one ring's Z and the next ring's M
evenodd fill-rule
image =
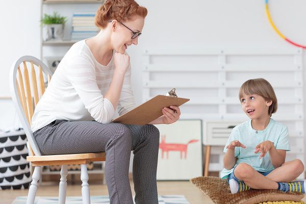
M252 189L278 189L305 193L305 181L291 182L304 171L296 159L285 162L290 150L288 129L274 121L277 99L269 82L248 80L240 88L239 99L250 120L234 127L224 147L222 179L231 192Z

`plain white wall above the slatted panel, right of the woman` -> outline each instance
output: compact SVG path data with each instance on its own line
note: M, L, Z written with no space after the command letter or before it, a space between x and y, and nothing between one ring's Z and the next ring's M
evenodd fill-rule
M264 0L147 1L138 3L148 9L143 35L137 46L129 48L133 63L133 87L141 102L142 53L150 48L228 48L276 47L292 45L270 26ZM269 1L276 26L291 40L306 45L303 0ZM306 59L304 54L304 60Z

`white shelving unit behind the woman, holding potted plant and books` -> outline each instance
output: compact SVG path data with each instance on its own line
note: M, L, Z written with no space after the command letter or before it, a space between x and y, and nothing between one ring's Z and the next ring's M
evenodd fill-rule
M52 14L57 11L62 16L67 16L67 22L64 27L63 40L43 41L42 28L40 40L40 58L46 65L49 66L48 59L59 59L63 57L68 49L77 41L70 40L71 19L74 12L96 12L99 6L104 3L104 0L42 0L41 1L41 17L44 13ZM94 169L88 170L89 174L104 174L105 162L94 162ZM42 168L42 174L60 174L60 171L50 171L48 168ZM68 174L81 174L79 170L69 170ZM105 184L105 174L103 178Z

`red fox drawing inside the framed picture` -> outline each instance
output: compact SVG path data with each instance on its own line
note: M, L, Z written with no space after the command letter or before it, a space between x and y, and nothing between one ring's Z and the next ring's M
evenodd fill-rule
M183 152L185 153L185 159L187 157L187 147L188 144L198 142L199 140L190 140L187 144L180 143L166 143L166 135L162 135L162 141L160 142L159 148L162 150L162 159L164 159L164 152L167 154L167 159L169 157L169 151L180 151L181 159L183 158Z

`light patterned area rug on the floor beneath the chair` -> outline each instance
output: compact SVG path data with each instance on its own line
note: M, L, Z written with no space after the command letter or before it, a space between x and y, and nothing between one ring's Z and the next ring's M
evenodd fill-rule
M12 204L25 204L27 196L19 196L12 202ZM58 197L40 197L36 196L34 204L54 204L59 203ZM81 196L67 196L66 204L82 204ZM109 204L110 200L108 196L90 196L90 203L103 203ZM190 204L184 195L162 195L158 196L159 204Z

